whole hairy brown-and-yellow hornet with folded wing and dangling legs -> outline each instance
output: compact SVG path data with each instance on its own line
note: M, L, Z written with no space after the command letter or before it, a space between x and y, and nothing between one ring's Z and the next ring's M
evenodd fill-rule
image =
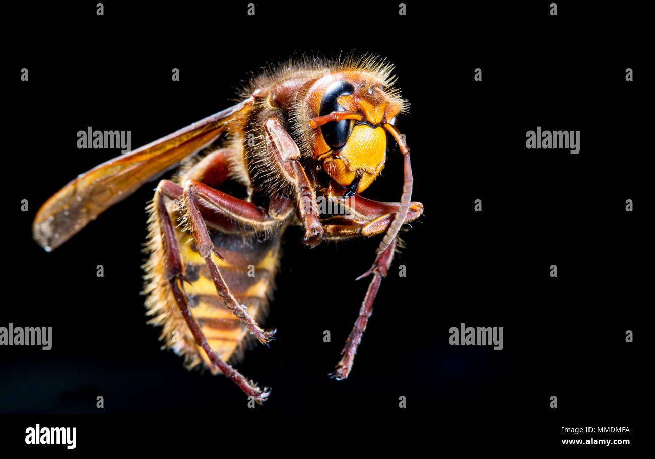
M323 239L383 234L373 266L358 278L372 276L331 374L346 379L392 262L396 235L423 211L421 203L410 202L409 148L396 128L407 102L392 88L393 68L364 57L305 58L268 69L250 81L233 107L64 186L39 210L33 237L53 250L181 163L173 180L160 180L147 207L143 293L147 315L153 316L149 323L162 326L164 347L185 356L187 366L223 373L261 402L271 390L227 362L242 356L248 338L267 344L276 332L260 323L284 230L302 226L310 247ZM404 158L398 203L360 196L384 167L387 134ZM343 205L347 215L321 213L317 197Z

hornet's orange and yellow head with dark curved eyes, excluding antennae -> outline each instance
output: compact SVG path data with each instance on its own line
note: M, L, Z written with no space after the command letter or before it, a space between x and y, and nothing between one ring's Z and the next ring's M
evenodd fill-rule
M367 75L330 75L318 80L308 100L316 116L357 112L362 120L340 120L316 127L314 157L349 194L363 192L386 161L385 123L394 124L400 104ZM318 97L320 95L320 98ZM318 103L317 103L318 101Z

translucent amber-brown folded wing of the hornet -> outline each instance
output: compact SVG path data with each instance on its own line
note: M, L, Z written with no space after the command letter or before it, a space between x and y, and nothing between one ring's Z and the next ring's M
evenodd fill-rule
M41 206L32 226L35 241L48 252L59 247L142 184L212 143L225 130L229 118L252 106L253 101L254 97L248 97L229 109L79 175Z

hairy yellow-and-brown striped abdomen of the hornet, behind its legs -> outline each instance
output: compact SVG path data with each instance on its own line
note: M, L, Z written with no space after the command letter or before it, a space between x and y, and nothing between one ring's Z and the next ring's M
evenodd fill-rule
M173 222L178 220L178 213L169 207ZM163 252L155 213L151 213L151 233L149 248L151 257L145 265L147 281L144 293L147 294L147 314L154 316L148 323L162 326L160 339L166 341L164 347L172 347L178 354L187 358L189 367L204 362L205 366L216 373L217 369L209 363L205 352L196 346L179 307L173 298L168 281L164 278ZM177 230L181 258L187 278L184 290L189 299L191 313L200 325L207 341L223 362L231 357L240 358L250 332L236 316L225 307L223 299L218 296L214 281L200 254L190 231ZM274 276L280 255L280 233L269 235L267 239L242 236L212 230L212 239L224 260L212 254L212 259L221 271L228 288L236 301L248 307L248 313L261 324L267 313L267 297L273 288Z

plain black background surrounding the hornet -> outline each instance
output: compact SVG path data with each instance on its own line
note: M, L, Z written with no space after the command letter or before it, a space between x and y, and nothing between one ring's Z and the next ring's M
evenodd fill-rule
M247 2L105 3L104 16L95 4L15 10L5 134L16 144L5 151L11 192L0 326L52 326L53 345L0 349L0 413L32 413L13 417L20 421L10 422L18 433L9 443L22 443L21 429L35 422L117 429L135 419L128 414L173 422L191 412L268 420L302 413L326 425L402 419L470 439L493 432L498 449L519 439L555 446L567 437L562 427L628 426L632 433L617 437L638 435L652 150L645 14L623 3L559 3L553 17L549 3L408 2L407 16L396 2L257 3L253 17ZM238 364L273 388L251 415L234 384L186 371L159 349L159 329L145 324L140 250L155 182L50 254L31 240L31 219L67 181L118 153L77 149L77 131L130 130L137 148L228 107L234 86L267 62L339 50L396 64L411 103L399 128L412 150L413 200L425 212L403 233L407 248L342 382L327 373L364 298L367 281L354 278L373 262L379 239L310 250L299 229L288 231L265 322L278 328L276 341ZM29 82L20 81L24 67ZM527 150L525 132L537 126L580 130L580 153ZM394 149L364 196L396 201L401 188ZM22 199L29 213L20 212ZM474 213L475 199L482 213ZM98 264L105 277L96 277ZM398 277L400 264L407 277ZM504 349L449 345L448 330L460 322L504 327ZM635 343L626 343L626 330ZM407 409L398 408L399 396ZM78 443L105 434L78 432Z

